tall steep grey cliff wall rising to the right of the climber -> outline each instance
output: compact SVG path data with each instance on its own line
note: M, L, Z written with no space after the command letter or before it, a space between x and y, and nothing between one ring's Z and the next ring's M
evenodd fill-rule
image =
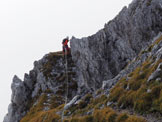
M162 31L162 1L134 0L96 34L71 39L79 86L97 89L114 78Z

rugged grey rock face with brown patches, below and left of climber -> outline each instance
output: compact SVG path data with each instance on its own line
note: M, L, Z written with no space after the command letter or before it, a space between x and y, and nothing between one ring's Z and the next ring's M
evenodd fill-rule
M69 55L68 59L68 101L77 94L75 65ZM50 91L51 94L64 98L67 80L65 78L65 61L61 52L49 53L41 60L34 62L34 68L25 74L24 81L14 76L11 85L12 97L8 107L8 114L3 122L19 122L26 115L33 101L41 94ZM47 110L48 108L44 108Z

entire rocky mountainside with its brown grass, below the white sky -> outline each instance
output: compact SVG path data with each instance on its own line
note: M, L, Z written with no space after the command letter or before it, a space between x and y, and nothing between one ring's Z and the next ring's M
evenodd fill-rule
M70 46L14 76L3 122L162 122L162 0L133 0Z

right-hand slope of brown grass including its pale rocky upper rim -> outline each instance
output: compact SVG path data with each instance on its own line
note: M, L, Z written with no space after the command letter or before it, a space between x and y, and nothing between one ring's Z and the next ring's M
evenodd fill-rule
M145 117L147 122L162 118L162 34L140 52L114 79L105 81L108 106ZM111 85L112 82L117 82ZM110 90L111 86L111 90ZM107 88L108 87L108 88Z

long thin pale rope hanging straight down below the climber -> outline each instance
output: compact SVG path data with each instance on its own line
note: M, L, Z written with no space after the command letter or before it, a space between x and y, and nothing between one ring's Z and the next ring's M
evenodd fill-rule
M62 111L61 122L64 120L64 112L65 106L68 102L68 94L69 94L69 82L68 82L68 61L67 61L67 49L65 48L65 75L66 75L66 94L65 94L65 105Z

